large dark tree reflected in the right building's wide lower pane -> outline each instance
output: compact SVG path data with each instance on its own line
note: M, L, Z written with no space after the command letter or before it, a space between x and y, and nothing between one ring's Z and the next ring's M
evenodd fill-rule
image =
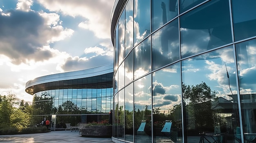
M187 129L210 131L213 128L212 101L216 99L216 92L212 91L205 82L198 85L186 86L182 83L182 93L186 108Z

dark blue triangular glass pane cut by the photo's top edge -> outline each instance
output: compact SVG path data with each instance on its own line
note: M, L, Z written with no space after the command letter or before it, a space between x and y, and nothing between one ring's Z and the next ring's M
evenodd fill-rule
M170 0L170 1L174 1L174 0ZM192 7L195 7L196 5L204 1L205 0L179 0L180 13L183 13L184 11L191 9Z

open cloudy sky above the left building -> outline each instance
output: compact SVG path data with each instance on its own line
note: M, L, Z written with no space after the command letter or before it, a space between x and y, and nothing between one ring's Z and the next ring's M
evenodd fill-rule
M0 95L31 103L27 81L113 62L115 0L0 0Z

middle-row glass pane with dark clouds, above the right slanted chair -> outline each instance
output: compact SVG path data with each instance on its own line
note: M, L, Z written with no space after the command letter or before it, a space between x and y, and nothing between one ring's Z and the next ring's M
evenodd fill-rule
M152 68L160 68L180 59L178 20L152 35Z

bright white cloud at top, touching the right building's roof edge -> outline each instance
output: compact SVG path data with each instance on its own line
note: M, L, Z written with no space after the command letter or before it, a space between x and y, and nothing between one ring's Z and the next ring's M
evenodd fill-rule
M110 38L110 13L114 0L38 0L50 11L86 18L79 24L99 38ZM97 5L97 6L96 6Z

